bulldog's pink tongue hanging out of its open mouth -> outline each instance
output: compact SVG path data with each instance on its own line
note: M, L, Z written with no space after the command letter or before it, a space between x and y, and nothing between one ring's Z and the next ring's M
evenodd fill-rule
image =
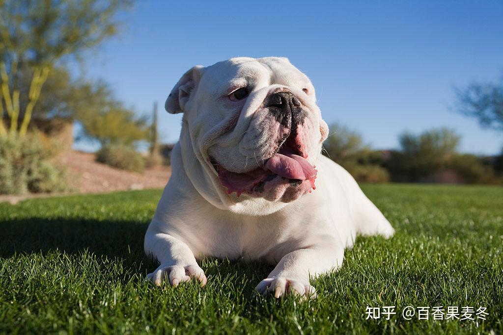
M269 158L264 169L285 178L310 180L313 185L317 172L305 158L294 154L280 153Z

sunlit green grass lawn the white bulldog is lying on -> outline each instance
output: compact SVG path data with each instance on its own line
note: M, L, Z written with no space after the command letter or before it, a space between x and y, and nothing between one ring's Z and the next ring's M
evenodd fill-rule
M158 190L0 203L0 332L503 332L503 188L364 185L396 230L359 238L300 302L254 293L271 270L208 259L205 288L144 281ZM397 306L366 320L366 306ZM412 306L486 306L485 321L404 320Z

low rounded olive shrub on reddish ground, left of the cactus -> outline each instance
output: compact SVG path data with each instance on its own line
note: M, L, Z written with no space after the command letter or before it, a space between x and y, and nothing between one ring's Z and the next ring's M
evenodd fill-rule
M112 167L143 172L145 159L133 148L124 145L106 145L96 153L96 160Z

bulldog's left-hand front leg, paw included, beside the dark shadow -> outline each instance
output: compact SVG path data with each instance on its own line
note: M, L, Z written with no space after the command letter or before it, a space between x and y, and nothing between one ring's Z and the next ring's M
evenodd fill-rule
M159 286L169 280L172 286L196 278L201 285L206 284L204 271L199 267L190 248L171 235L151 232L150 227L145 234L145 252L152 255L160 265L154 272L147 275L147 279Z

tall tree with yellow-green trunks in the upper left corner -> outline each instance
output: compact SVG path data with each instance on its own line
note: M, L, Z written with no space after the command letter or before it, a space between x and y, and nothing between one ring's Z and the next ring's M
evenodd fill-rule
M55 64L113 36L116 13L128 5L124 0L0 0L0 136L25 136ZM22 80L27 74L29 86Z

